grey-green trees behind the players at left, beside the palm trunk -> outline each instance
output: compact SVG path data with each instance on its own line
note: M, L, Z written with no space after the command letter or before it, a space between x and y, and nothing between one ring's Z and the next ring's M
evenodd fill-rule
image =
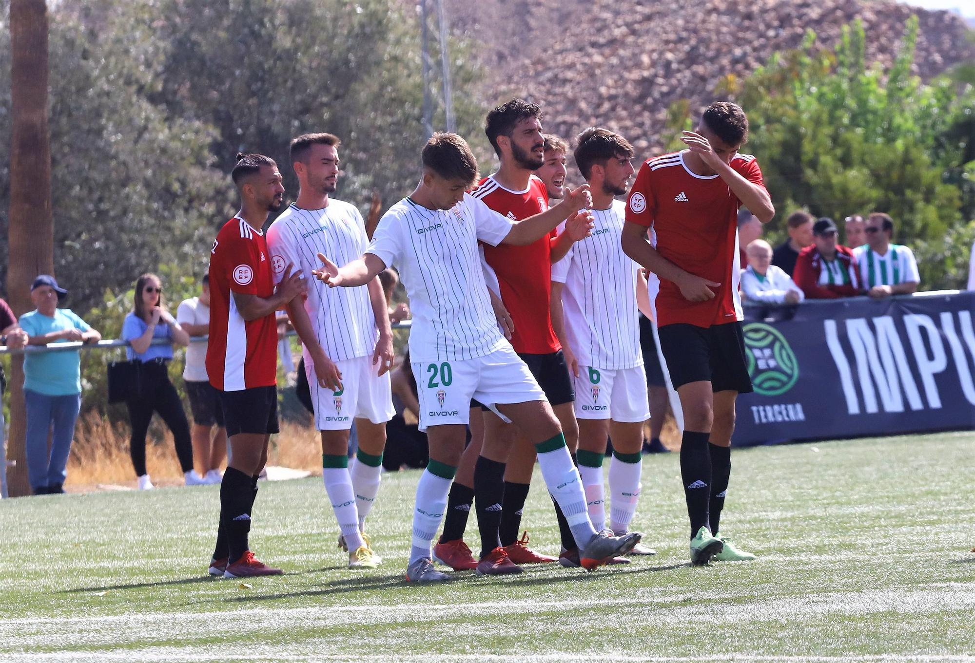
M396 0L55 5L55 264L71 306L84 314L145 271L201 274L216 230L236 208L227 174L238 150L278 160L293 198L289 141L328 131L343 141L338 195L365 207L377 190L388 207L409 193L426 137L419 27L408 10ZM9 44L0 22L7 142ZM469 61L467 47L452 43L457 131L483 137L484 109L465 94L476 76ZM0 171L3 236L8 181ZM0 292L6 264L3 252Z

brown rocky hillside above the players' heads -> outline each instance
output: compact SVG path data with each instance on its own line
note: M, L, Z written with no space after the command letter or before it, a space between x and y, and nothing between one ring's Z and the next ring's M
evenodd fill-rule
M728 74L747 76L805 30L839 39L860 18L870 61L889 62L911 14L920 20L916 70L930 77L975 59L964 20L890 1L447 0L451 29L484 44L488 102L521 95L545 109L547 131L572 137L601 124L641 154L678 99L698 108Z

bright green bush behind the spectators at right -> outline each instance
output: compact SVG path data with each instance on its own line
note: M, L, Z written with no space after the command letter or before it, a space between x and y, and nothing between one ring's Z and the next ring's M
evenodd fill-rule
M975 92L949 77L912 76L916 38L913 17L884 71L865 61L861 22L832 50L809 32L800 50L773 56L745 81L741 100L780 231L802 207L835 219L886 212L895 241L917 249L930 290L956 287L967 264Z

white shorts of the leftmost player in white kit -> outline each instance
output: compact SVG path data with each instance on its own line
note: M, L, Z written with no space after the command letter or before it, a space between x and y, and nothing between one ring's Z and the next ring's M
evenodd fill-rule
M342 373L341 391L324 389L315 377L311 357L305 353L305 373L311 402L315 407L315 427L320 431L342 431L352 427L352 419L361 417L372 423L393 418L393 391L389 373L376 375L372 357L353 357L335 362Z

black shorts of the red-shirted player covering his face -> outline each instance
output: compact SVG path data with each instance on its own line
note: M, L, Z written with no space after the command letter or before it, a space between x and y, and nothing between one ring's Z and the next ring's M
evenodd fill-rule
M712 391L752 391L741 323L664 325L657 333L675 389L689 382L707 381Z

